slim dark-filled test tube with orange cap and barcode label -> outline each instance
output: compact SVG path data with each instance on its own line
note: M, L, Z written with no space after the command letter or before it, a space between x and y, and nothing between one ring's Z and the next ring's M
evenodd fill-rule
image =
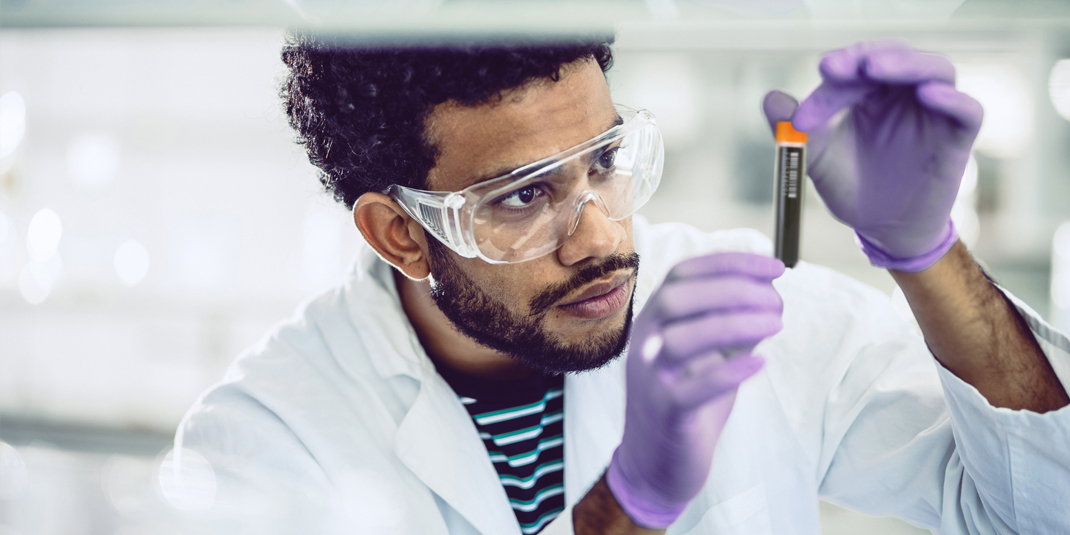
M802 185L806 184L806 133L790 121L777 123L776 255L788 268L799 260L799 226L802 223Z

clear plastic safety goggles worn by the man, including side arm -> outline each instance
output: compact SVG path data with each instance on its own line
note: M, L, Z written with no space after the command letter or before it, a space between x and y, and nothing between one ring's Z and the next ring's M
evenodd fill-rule
M639 210L661 181L664 147L654 114L615 106L623 124L553 156L469 186L383 192L464 258L523 262L557 250L592 203L613 221Z

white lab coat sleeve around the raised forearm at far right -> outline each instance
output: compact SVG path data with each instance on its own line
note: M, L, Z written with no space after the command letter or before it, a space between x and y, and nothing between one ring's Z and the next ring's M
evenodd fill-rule
M1068 384L1070 342L1014 302ZM941 534L1070 533L1070 408L994 408L903 332L858 351L825 411L826 500Z

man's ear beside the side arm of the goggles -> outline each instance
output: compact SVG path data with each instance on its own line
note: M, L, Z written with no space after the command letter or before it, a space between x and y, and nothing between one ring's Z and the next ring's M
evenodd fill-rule
M376 253L413 280L431 271L424 228L388 195L366 193L353 204L353 223Z

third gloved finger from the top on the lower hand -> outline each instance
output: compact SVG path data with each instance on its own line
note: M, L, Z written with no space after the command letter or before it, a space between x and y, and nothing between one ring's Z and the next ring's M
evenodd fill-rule
M659 366L679 366L709 351L758 343L781 328L779 311L712 314L669 323L661 330L663 343L657 363Z

